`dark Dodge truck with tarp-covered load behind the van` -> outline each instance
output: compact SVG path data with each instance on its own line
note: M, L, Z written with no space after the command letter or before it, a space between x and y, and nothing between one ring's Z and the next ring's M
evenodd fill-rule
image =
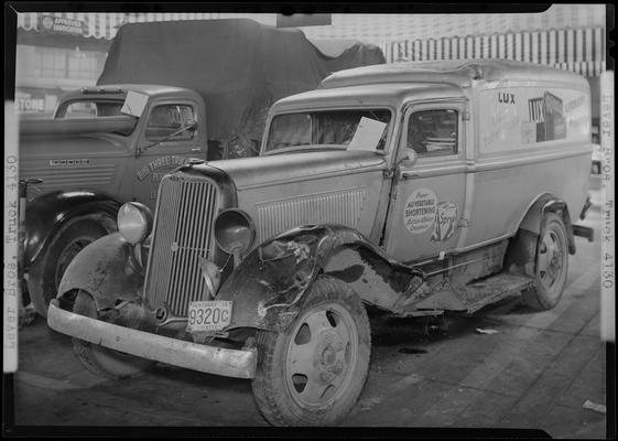
M96 87L65 94L52 119L20 125L20 179L42 180L25 212L36 312L46 315L77 252L117 229L122 203L153 208L161 178L191 158L256 155L272 103L380 63L376 46L312 43L245 19L123 25Z

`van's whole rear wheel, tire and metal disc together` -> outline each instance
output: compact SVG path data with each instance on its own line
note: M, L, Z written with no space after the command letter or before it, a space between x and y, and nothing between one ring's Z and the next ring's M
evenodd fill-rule
M568 270L568 246L562 218L547 213L536 247L534 288L522 292L523 301L535 310L554 308L564 291Z

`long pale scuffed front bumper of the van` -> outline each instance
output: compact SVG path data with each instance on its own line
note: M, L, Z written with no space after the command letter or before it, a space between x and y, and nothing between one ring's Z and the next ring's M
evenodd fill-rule
M47 324L54 331L110 349L187 369L236 378L253 378L257 349L228 349L170 338L74 314L52 300Z

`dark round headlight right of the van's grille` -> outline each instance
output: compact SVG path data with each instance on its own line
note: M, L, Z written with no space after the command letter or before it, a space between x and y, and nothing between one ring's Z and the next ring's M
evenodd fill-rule
M229 255L247 251L256 238L256 228L249 215L240 209L226 209L215 220L215 240Z

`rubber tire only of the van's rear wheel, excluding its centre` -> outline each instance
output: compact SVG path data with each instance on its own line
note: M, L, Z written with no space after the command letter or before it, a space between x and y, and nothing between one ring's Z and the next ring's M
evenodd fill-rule
M566 237L566 228L562 217L555 213L547 213L545 215L545 223L541 228L541 234L539 236L539 245L536 246L535 261L539 261L539 256L542 252L543 240L547 235L554 235L557 239L561 256L559 259L561 261L561 269L555 284L549 290L542 283L541 270L536 265L531 267L536 267L534 273L529 275L534 277L534 288L524 290L522 292L523 302L530 308L538 311L546 311L554 308L562 298L564 287L566 286L566 277L568 273L568 239Z

